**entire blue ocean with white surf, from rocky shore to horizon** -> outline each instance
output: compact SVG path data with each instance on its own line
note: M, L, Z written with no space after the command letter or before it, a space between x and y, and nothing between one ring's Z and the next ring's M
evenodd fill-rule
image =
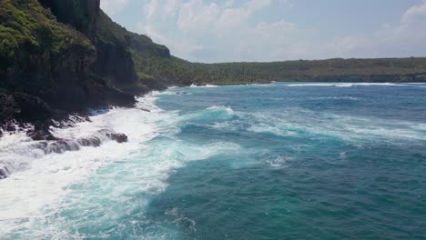
M0 138L0 239L426 239L426 84L172 87Z

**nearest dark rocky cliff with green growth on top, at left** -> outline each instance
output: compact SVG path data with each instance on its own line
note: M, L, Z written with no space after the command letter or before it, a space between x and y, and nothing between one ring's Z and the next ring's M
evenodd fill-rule
M24 102L17 101L17 93L31 96L26 101L33 101L34 105L41 101L58 110L50 113L133 105L133 95L117 90L108 85L107 80L91 73L90 66L98 58L96 46L88 36L95 33L99 0L40 2L43 6L36 0L3 0L0 4L3 99L14 103L20 109L18 112L25 112L25 107L21 109ZM1 106L0 121L20 116L12 114L16 111L5 109L7 107ZM47 119L55 115L44 116Z

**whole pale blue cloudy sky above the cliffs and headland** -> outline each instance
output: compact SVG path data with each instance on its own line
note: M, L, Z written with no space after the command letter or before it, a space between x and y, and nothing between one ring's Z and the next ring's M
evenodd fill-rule
M193 62L426 56L426 0L101 0Z

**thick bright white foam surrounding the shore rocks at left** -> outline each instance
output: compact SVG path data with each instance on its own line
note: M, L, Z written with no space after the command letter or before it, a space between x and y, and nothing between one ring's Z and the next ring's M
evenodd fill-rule
M156 135L156 126L147 121L151 115L138 108L117 108L105 115L92 117L92 122L54 129L54 135L68 139L94 135L101 129L124 133L129 139L126 144L107 141L99 147L82 147L79 151L61 155L45 155L43 151L32 148L34 142L25 134L1 138L0 163L13 169L14 173L0 181L0 235L20 226L22 219L41 215L44 206L56 205L69 193L69 185L137 151Z

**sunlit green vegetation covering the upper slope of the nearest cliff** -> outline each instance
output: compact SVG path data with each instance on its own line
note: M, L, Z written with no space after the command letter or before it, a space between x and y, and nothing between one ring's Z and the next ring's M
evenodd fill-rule
M36 0L2 0L0 5L1 69L13 65L20 48L60 57L70 45L87 53L94 46L76 30L56 22L56 18Z

